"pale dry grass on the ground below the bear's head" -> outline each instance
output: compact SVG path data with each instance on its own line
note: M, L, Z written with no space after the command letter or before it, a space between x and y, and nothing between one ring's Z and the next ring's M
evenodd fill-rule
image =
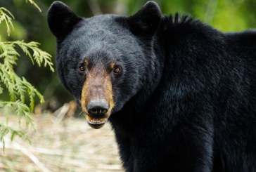
M6 140L5 151L0 145L0 171L123 171L109 124L95 130L85 119L54 118L33 116L36 132L29 133L31 145L20 139ZM9 124L18 123L13 117Z

